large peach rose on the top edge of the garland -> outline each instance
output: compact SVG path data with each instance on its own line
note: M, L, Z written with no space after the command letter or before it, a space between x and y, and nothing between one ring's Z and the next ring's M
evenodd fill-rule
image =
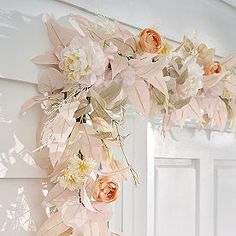
M143 52L159 53L163 48L163 40L155 30L146 28L139 34L137 46Z

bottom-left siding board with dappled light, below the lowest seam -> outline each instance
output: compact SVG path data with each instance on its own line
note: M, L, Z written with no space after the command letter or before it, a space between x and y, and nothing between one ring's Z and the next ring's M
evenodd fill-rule
M0 235L34 235L46 218L41 208L47 183L42 180L6 180L1 183Z

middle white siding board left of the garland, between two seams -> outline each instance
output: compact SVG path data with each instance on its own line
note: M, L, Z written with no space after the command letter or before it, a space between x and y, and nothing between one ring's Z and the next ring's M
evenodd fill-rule
M19 119L25 100L36 94L34 85L0 80L0 177L42 177L33 160L35 134L40 119L39 108L33 108Z

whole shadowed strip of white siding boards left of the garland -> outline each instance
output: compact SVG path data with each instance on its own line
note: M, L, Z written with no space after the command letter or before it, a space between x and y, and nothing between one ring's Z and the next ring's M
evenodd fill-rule
M32 153L40 109L19 119L21 105L37 95L30 59L50 48L45 34L42 16L0 12L0 235L34 235L46 218L48 186Z

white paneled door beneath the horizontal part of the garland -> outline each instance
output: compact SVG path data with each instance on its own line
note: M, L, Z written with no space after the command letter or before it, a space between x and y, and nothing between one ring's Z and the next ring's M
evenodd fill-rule
M149 134L155 141L148 182L154 227L148 235L235 236L234 135L193 127L175 127L165 138Z

